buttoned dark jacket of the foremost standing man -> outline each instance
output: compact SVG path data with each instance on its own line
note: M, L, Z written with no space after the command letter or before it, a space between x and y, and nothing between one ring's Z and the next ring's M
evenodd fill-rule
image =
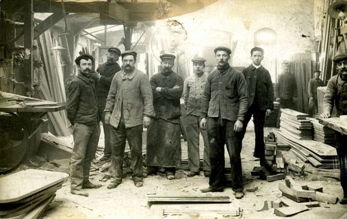
M244 75L234 68L223 73L213 70L207 77L201 99L201 117L221 117L227 120L244 120L248 109L248 92Z

